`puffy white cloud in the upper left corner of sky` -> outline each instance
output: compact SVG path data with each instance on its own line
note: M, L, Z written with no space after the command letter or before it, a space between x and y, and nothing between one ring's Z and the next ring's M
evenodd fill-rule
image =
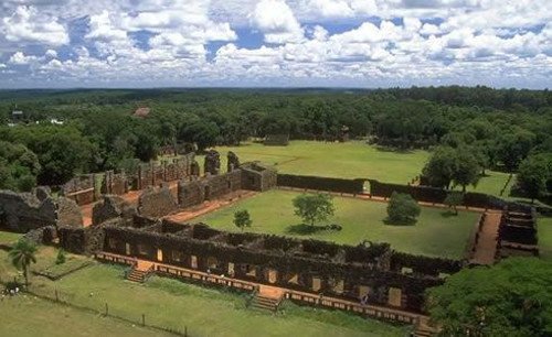
M70 42L65 28L56 18L42 15L33 7L19 6L10 17L2 19L0 31L12 42L54 46Z

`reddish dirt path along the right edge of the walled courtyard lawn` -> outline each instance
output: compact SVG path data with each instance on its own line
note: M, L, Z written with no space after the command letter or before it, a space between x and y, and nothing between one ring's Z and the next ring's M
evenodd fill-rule
M485 222L479 231L476 251L471 263L492 264L497 253L498 227L502 213L499 210L489 210L486 213Z

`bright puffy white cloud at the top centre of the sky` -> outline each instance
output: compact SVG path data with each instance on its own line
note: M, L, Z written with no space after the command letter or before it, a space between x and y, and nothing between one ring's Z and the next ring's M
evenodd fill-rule
M305 39L302 28L284 0L261 0L251 20L268 43L297 43Z

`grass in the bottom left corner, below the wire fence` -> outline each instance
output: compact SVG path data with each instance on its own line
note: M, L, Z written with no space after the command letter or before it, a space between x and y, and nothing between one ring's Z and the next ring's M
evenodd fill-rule
M0 316L0 336L173 336L28 295L3 300Z

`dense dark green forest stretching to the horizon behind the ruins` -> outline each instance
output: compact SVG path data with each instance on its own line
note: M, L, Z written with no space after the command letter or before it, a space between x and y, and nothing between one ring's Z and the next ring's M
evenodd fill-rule
M150 113L136 117L137 108ZM14 119L12 111L22 111ZM54 120L54 122L52 122ZM552 192L552 93L488 87L390 89L117 89L0 91L0 188L63 184L77 173L266 134L351 138L433 150L431 185L469 185L486 168L519 172L519 193ZM63 121L63 124L60 123Z

